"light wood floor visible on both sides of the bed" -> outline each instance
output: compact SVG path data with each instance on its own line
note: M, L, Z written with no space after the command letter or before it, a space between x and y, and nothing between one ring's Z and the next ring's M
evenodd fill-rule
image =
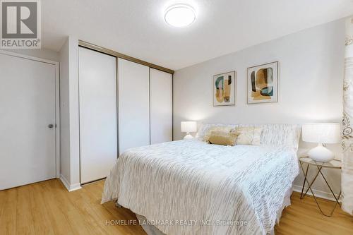
M145 234L139 225L107 225L109 220L135 220L128 209L100 205L104 181L68 193L59 179L0 191L0 234ZM332 202L320 200L323 209ZM311 197L299 199L282 213L276 234L353 234L353 217L337 207L325 217Z

